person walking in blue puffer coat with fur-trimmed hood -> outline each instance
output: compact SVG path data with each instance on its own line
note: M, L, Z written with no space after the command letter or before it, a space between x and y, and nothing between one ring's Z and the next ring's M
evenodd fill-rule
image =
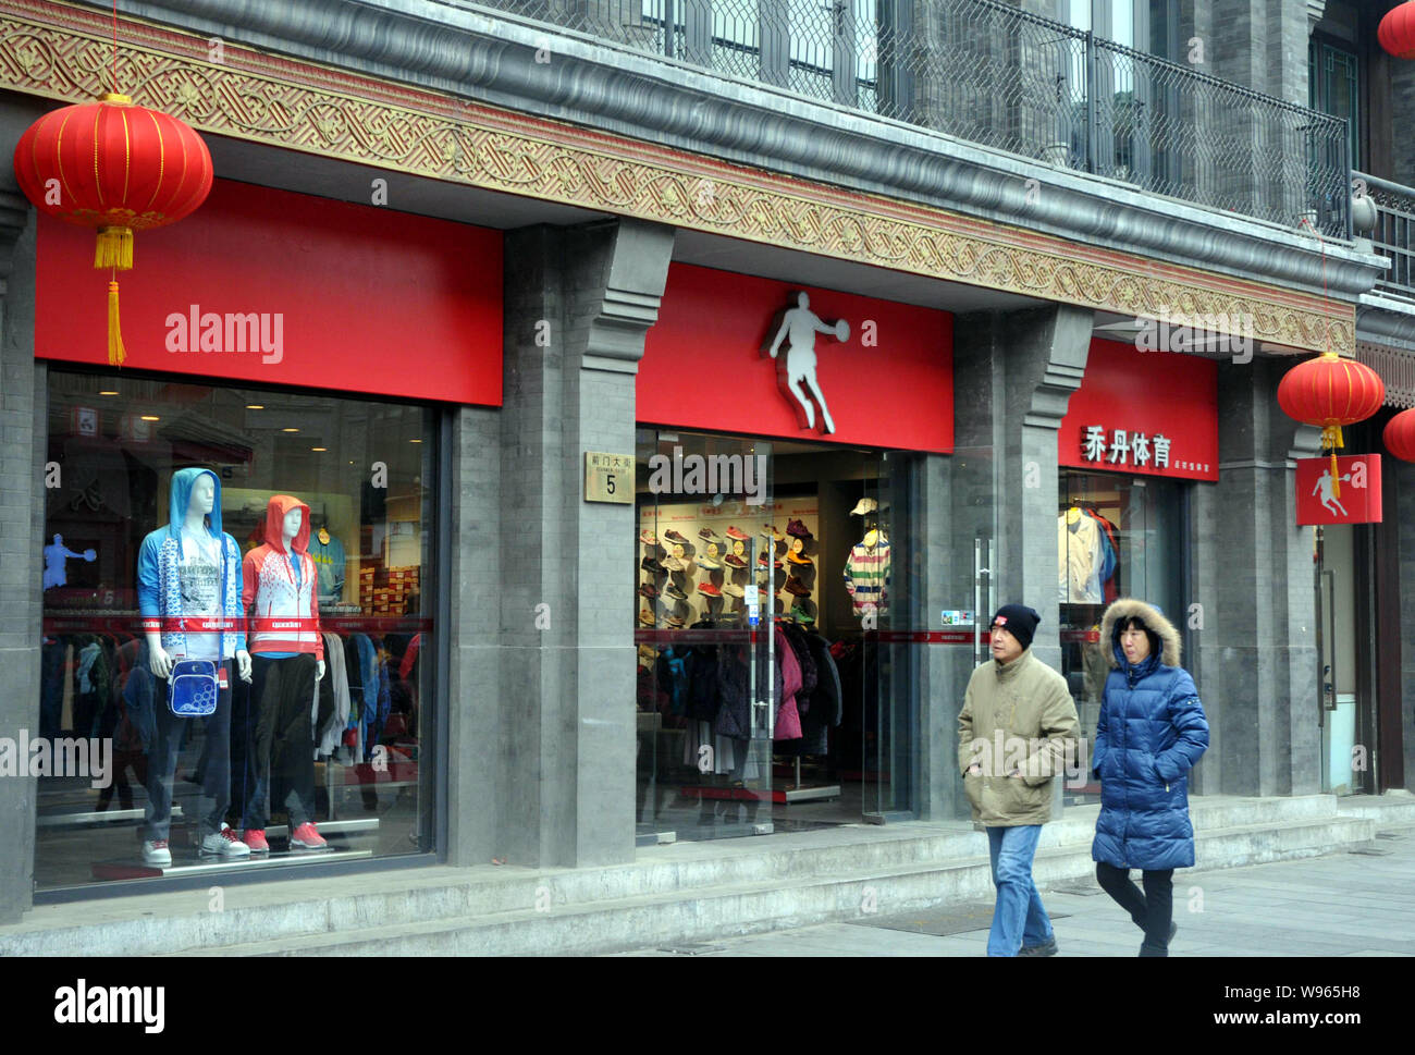
M1101 641L1111 646L1114 670L1091 765L1101 780L1095 878L1145 932L1140 956L1167 956L1179 929L1174 869L1194 865L1189 770L1208 746L1208 722L1194 680L1179 666L1179 632L1159 609L1121 598L1105 610ZM1143 894L1131 868L1142 869Z

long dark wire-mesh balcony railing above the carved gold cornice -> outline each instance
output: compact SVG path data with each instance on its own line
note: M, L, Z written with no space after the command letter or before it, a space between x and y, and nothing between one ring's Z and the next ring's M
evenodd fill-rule
M1000 0L444 0L1350 236L1346 120Z

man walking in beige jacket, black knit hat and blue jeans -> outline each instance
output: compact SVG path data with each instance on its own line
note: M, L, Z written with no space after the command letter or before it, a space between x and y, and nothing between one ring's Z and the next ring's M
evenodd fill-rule
M1026 605L992 617L992 660L968 680L958 715L958 768L975 824L988 831L998 901L989 956L1054 956L1051 920L1032 881L1051 782L1077 745L1080 722L1065 681L1032 654L1041 622Z

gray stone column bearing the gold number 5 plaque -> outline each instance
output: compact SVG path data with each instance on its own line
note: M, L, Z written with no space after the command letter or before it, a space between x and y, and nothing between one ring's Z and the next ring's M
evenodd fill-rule
M498 845L514 864L634 854L634 507L586 503L584 453L634 453L634 375L674 232L507 236Z

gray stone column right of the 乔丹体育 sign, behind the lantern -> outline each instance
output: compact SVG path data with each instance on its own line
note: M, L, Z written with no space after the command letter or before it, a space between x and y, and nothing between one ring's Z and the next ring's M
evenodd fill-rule
M1206 792L1310 794L1322 785L1312 528L1296 527L1292 462L1317 455L1319 436L1278 406L1292 364L1218 365L1218 483L1196 489L1190 523Z

